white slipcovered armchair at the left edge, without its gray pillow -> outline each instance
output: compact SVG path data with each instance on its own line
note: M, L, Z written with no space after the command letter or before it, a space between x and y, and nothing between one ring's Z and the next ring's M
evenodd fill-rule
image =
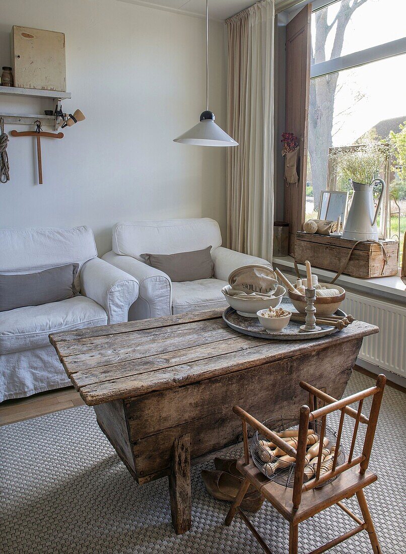
M48 335L127 321L138 295L135 278L97 258L88 227L0 230L2 274L35 273L70 263L79 264L79 295L0 312L0 402L68 386Z

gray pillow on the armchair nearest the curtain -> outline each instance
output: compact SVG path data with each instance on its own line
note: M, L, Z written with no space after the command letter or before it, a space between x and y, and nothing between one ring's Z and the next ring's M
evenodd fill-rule
M193 252L179 254L141 254L145 263L166 273L171 281L197 281L210 279L214 275L214 263L210 255L211 246Z

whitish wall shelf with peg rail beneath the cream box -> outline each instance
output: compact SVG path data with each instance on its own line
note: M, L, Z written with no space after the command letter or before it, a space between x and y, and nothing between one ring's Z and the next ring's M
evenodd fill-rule
M61 101L71 98L71 93L65 93L61 90L42 90L42 89L22 89L16 86L0 86L0 95L20 96L27 98L48 98L53 100L52 110L56 107L61 108ZM17 125L34 125L35 121L40 120L43 126L54 127L57 131L61 124L61 117L45 114L9 114L0 111L0 117L3 117L4 123Z

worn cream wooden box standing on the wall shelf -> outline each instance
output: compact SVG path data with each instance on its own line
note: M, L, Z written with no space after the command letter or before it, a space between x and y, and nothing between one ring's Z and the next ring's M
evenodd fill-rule
M14 86L66 91L64 33L14 25L11 63Z

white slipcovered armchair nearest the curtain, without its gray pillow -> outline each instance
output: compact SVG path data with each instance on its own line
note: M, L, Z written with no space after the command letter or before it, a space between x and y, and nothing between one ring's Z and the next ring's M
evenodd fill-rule
M133 275L140 284L129 321L226 307L221 289L234 269L249 264L270 265L262 258L234 252L221 244L219 225L209 218L117 223L113 228L113 249L103 259ZM141 258L141 254L176 254L210 245L212 279L172 283L168 275L146 265Z

